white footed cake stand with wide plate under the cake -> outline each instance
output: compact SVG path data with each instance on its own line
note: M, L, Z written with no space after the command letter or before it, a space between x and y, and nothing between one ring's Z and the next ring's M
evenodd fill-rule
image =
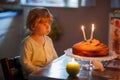
M88 61L89 62L88 70L93 70L93 64L92 64L93 61L103 62L103 61L110 61L110 60L117 58L117 55L114 51L110 51L108 56L103 56L103 57L84 57L84 56L74 55L72 53L72 48L68 48L64 52L67 56L72 57L76 60Z

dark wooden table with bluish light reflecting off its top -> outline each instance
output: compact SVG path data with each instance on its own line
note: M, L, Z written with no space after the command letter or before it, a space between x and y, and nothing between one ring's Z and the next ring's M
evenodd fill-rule
M70 77L66 72L66 64L71 60L71 57L64 54L45 68L31 73L29 80L120 80L120 68L113 67L105 67L105 71L88 71L81 68L76 77ZM120 61L117 61L118 63L120 65Z

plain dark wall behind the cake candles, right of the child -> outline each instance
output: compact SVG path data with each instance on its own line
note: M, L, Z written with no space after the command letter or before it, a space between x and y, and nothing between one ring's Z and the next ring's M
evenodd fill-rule
M89 39L90 24L95 24L94 38L99 39L108 45L109 33L109 13L110 0L96 0L95 7L70 8L49 8L57 15L57 20L62 28L62 36L59 41L54 42L59 55L64 54L64 50L71 48L76 42L83 40L80 25L85 25L86 35Z

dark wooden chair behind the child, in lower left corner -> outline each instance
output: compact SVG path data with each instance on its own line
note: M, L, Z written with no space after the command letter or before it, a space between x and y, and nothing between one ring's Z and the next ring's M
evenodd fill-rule
M16 56L0 60L5 80L24 80L19 58L20 56Z

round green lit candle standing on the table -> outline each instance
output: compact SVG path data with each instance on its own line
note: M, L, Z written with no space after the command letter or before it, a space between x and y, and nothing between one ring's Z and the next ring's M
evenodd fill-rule
M68 72L69 76L76 76L80 71L80 64L73 58L71 62L67 63L66 71Z

